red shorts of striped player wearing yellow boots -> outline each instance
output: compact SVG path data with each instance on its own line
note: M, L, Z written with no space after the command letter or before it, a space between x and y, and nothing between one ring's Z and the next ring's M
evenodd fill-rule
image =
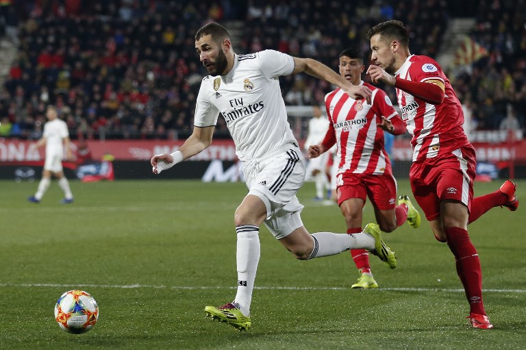
M397 203L397 181L392 174L338 174L338 205L351 198L371 199L379 210L395 209Z

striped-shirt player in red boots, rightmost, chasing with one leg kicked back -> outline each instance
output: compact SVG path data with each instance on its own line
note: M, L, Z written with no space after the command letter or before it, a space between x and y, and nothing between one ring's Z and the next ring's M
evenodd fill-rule
M449 79L433 59L412 55L403 23L379 23L367 33L373 64L367 69L373 83L395 86L402 119L412 134L411 188L440 242L447 242L470 305L475 328L489 329L482 301L482 273L468 223L490 208L516 210L516 186L506 181L499 190L473 199L475 149L462 124L462 105Z

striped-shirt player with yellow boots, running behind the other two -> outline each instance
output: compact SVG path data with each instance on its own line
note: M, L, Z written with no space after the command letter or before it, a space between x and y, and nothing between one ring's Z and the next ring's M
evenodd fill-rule
M367 86L373 91L371 105L349 97L340 88L325 95L329 129L318 145L308 149L308 156L317 159L337 145L336 200L348 234L362 232L362 210L367 197L373 204L382 231L392 232L406 220L416 228L421 218L410 199L400 196L396 204L397 182L384 148L383 130L400 135L405 133L405 125L387 94L362 81L365 66L360 51L353 48L342 51L339 69L340 75L355 86ZM358 283L351 288L377 288L368 252L351 249L351 255L360 271Z

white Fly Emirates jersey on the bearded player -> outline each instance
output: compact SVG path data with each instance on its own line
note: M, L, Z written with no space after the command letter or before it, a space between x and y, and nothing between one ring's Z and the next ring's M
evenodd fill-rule
M289 143L297 145L278 79L290 75L294 67L292 56L279 51L236 55L227 75L204 77L194 125L216 125L221 112L242 161L260 158Z

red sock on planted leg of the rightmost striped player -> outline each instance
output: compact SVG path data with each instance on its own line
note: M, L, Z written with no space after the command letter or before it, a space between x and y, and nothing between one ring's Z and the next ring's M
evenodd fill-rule
M458 277L464 286L470 312L485 315L482 302L482 271L477 249L471 243L468 232L460 227L445 229L447 245L455 255Z

